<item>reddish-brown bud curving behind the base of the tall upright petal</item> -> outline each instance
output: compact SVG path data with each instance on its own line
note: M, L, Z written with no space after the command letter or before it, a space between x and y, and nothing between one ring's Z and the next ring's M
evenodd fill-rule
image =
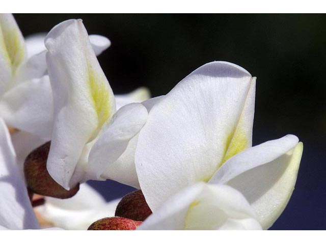
M24 174L29 191L49 197L70 198L79 190L79 184L67 191L49 175L46 169L51 142L34 149L25 159Z

